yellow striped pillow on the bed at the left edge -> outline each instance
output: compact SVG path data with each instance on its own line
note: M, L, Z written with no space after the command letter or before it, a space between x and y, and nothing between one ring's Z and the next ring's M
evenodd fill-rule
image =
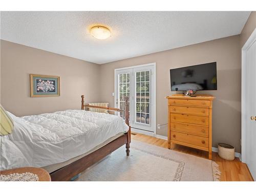
M8 135L12 133L13 121L12 118L6 113L5 109L0 104L0 136Z

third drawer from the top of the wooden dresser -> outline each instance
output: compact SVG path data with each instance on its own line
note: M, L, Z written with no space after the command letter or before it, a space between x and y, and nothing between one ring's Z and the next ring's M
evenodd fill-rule
M184 114L170 114L170 121L177 121L182 123L193 123L199 125L209 125L209 118L197 115L184 115Z

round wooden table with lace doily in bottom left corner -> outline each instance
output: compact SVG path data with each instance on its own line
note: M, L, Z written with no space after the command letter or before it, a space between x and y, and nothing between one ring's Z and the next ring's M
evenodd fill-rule
M51 181L49 173L38 167L0 170L0 181Z

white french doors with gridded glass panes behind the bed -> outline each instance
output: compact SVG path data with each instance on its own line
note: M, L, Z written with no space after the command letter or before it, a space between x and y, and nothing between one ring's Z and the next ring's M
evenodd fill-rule
M130 124L133 132L154 135L156 130L155 63L115 70L116 107L124 110L129 97ZM124 118L124 113L119 115Z

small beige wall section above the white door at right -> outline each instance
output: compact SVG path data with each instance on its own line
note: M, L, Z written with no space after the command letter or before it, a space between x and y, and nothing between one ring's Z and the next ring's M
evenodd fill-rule
M240 36L241 36L241 48L245 44L246 40L249 38L251 33L256 28L256 11L252 11Z

